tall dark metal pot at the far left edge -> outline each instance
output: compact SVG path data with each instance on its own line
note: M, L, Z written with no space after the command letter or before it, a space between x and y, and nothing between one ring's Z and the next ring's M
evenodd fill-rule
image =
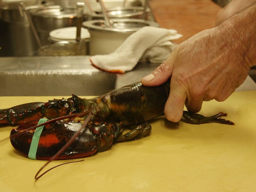
M36 0L3 0L0 4L0 56L32 56L38 49L28 18L19 11L19 3L37 9Z

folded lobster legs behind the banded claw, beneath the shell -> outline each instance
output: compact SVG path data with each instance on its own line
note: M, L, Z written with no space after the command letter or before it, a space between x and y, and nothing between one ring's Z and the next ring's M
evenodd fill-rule
M129 126L128 129L131 131L118 136L115 139L115 142L125 141L125 140L134 140L134 139L141 139L143 137L149 136L151 132L151 125L148 123L142 123L139 125Z

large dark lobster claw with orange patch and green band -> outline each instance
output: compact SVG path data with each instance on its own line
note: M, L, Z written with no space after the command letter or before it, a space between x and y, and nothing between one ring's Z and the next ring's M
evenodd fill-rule
M36 124L37 122L25 123L16 129L12 129L10 134L13 147L26 157L28 157L35 131L26 129ZM75 121L57 121L46 124L39 139L36 159L49 160L70 140L81 126L81 123ZM56 159L80 158L93 155L99 150L99 146L99 140L92 134L90 127L86 127L83 133L79 134L75 141Z

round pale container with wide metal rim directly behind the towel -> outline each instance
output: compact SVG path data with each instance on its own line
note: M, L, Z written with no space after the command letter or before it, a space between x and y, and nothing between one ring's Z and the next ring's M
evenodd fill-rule
M83 27L90 33L90 55L112 53L138 29L145 26L159 26L156 22L142 19L112 19L111 22L110 27L105 27L104 20L83 22Z

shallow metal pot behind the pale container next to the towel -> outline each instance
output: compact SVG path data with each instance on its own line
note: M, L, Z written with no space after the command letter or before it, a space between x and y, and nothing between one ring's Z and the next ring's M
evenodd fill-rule
M143 18L143 7L133 6L133 7L111 7L106 8L107 14L109 15L110 19L126 19L126 18L133 18L133 19L146 19ZM149 13L149 9L147 9L146 13ZM89 19L103 19L103 13L101 10L94 11L93 13L89 13Z

